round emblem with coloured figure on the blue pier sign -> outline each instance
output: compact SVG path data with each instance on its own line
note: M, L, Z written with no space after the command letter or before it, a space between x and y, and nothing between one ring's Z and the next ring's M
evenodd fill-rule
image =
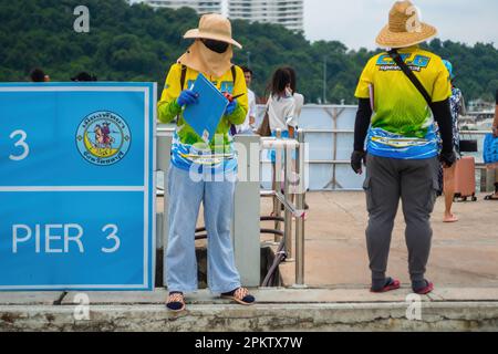
M89 163L111 166L127 154L132 134L126 122L117 114L100 111L86 116L77 127L76 146Z

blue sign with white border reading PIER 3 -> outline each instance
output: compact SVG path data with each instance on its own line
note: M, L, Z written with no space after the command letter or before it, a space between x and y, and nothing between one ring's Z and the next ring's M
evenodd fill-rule
M0 291L152 290L153 83L0 84Z

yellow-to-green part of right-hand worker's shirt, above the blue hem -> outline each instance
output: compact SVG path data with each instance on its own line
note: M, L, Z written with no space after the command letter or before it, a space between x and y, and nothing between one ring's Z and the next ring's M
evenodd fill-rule
M418 46L401 49L398 52L433 102L445 101L452 95L449 73L439 56ZM371 98L373 128L404 137L424 138L434 123L424 96L386 52L369 61L355 96Z

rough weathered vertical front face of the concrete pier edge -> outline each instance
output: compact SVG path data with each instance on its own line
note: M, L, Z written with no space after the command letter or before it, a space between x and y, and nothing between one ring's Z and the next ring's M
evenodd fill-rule
M164 305L92 305L90 320L74 306L0 306L1 331L496 331L498 302L427 303L421 321L402 303L189 305L181 314ZM80 313L80 312L77 312Z

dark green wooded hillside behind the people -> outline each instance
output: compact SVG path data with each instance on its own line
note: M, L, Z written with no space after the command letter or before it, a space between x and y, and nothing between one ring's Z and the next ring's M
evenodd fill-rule
M90 33L76 33L73 23L79 0L0 0L0 81L25 81L33 67L42 67L52 81L69 81L89 71L101 81L153 81L163 86L169 66L189 41L183 34L197 27L190 9L154 11L129 7L124 0L85 0ZM307 102L323 96L326 63L326 101L355 103L354 88L366 61L378 51L350 51L336 41L309 42L302 33L280 25L232 22L235 38L243 44L235 62L255 71L259 96L272 72L282 65L298 72L298 87ZM467 100L492 100L498 88L498 51L492 44L469 46L434 40L428 50L454 64L455 83Z

